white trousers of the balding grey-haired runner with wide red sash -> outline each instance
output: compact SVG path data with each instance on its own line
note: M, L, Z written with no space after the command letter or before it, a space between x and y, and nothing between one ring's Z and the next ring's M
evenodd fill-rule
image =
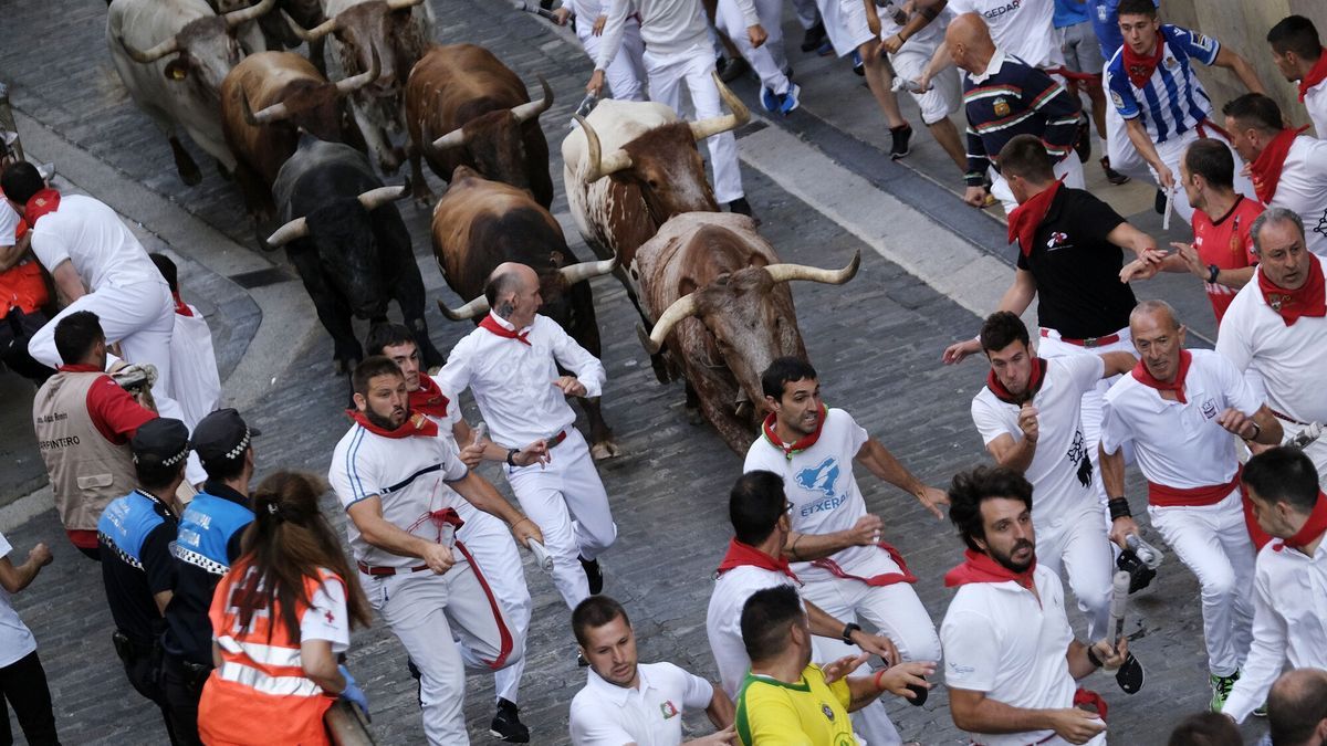
M1198 576L1208 668L1230 676L1253 642L1253 576L1257 552L1249 539L1237 487L1202 507L1148 507L1152 526Z

